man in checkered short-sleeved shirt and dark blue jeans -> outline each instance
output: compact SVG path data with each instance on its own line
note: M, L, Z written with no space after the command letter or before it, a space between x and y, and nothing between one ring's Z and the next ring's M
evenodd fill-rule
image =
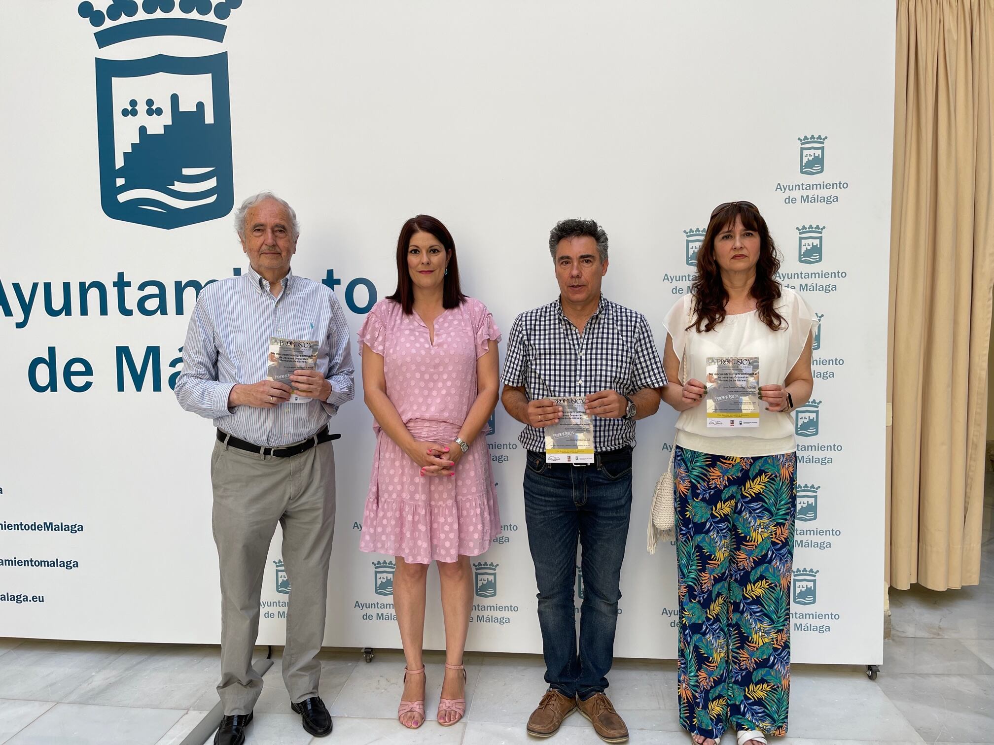
M631 514L635 419L656 413L666 374L645 317L600 294L607 234L592 220L565 220L549 236L560 296L522 313L508 335L501 400L524 423L525 519L539 585L539 624L549 690L528 720L548 737L580 707L597 734L628 730L604 694L614 656L621 561ZM551 396L580 396L593 418L594 462L548 463L543 429L563 409ZM577 539L583 602L578 654L574 611Z

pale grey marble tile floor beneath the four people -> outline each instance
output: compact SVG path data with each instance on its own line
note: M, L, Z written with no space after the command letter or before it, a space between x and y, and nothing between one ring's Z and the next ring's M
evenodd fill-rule
M944 593L892 590L892 639L878 679L859 667L795 666L790 734L771 745L994 743L992 508L981 584ZM277 659L265 674L248 745L539 742L524 723L545 688L540 657L467 654L467 714L443 728L433 719L444 659L427 653L429 720L414 731L394 718L403 684L399 653L378 651L366 664L358 650L325 650L321 660L332 736L311 738L300 727ZM0 745L179 745L217 701L218 669L211 646L0 639ZM675 663L619 660L609 678L632 745L691 742L678 723ZM734 741L726 734L726 744ZM549 742L600 740L573 714Z

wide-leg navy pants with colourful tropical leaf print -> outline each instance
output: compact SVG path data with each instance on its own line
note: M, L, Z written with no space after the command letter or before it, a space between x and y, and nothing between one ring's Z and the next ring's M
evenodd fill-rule
M677 447L673 459L680 724L784 735L796 454L755 458Z

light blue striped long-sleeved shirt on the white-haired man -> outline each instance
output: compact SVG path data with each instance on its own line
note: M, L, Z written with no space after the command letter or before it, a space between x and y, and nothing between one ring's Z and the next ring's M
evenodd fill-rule
M327 400L228 407L236 384L265 379L269 337L320 342L317 370L331 382ZM214 419L216 427L235 437L279 447L310 437L352 400L353 373L349 327L330 289L289 273L273 297L269 283L248 269L201 290L183 345L176 398L187 411Z

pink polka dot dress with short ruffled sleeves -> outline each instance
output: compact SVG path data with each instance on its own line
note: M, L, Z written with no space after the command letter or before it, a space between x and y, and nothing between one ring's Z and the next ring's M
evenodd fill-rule
M434 344L416 313L381 300L359 331L384 358L387 395L418 440L447 444L459 433L476 400L476 361L487 341L500 341L493 316L466 298L434 322ZM477 556L500 533L497 493L486 435L481 432L455 467L453 477L422 477L420 468L374 422L373 475L363 517L363 551L403 556L427 564Z

